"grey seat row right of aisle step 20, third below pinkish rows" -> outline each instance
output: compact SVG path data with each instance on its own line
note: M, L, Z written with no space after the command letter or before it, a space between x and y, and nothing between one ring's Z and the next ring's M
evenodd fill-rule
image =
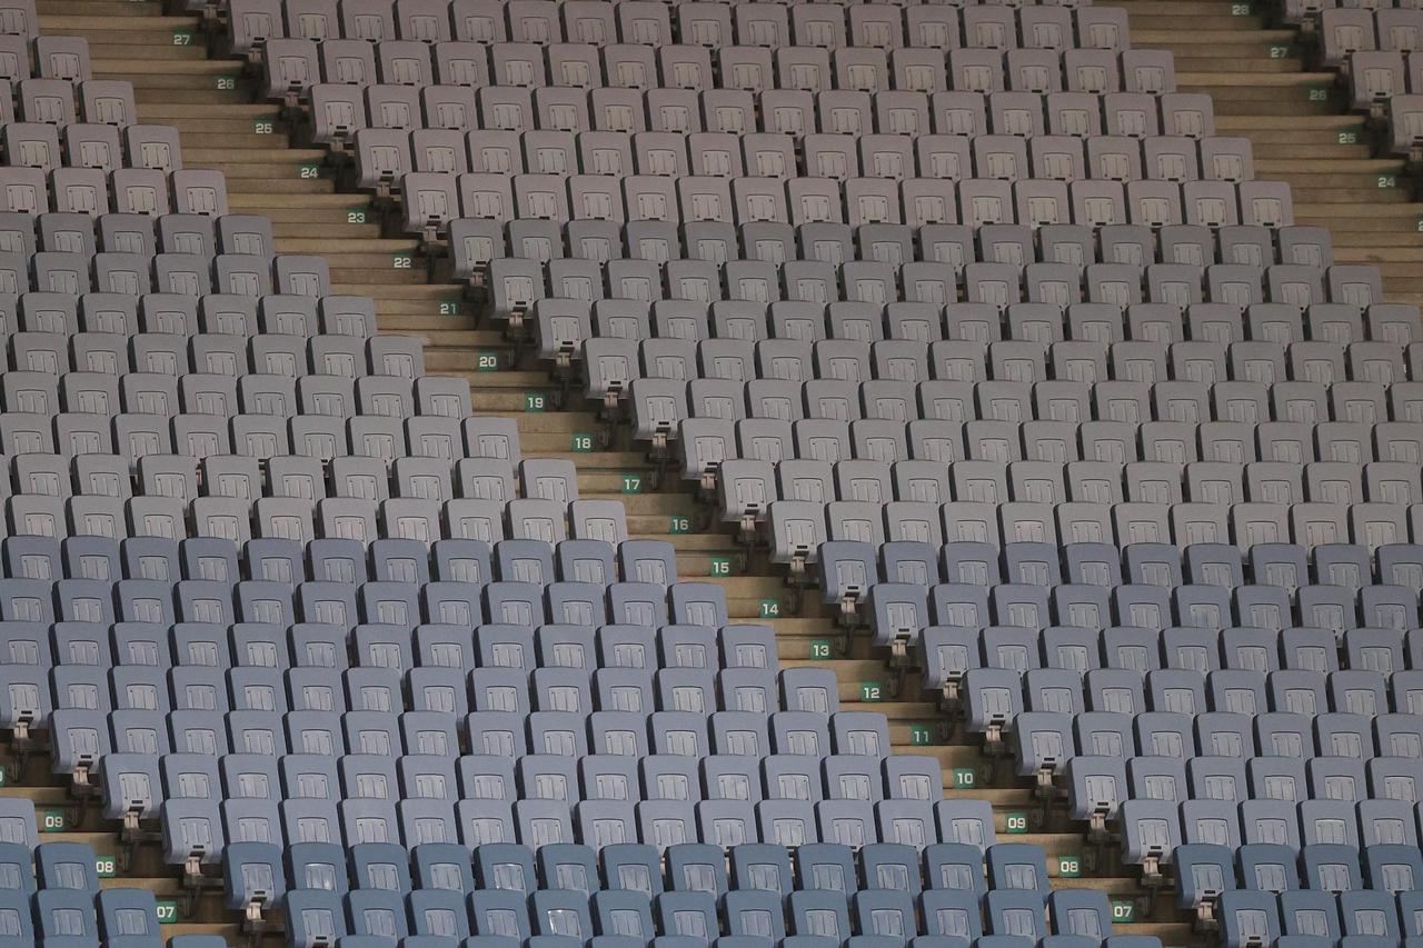
M905 269L909 266L912 265ZM1035 266L1039 266L1039 275L1046 276L1053 272L1047 268L1054 265L1029 265L1029 269ZM976 273L989 270L978 269ZM1093 275L1110 279L1116 273L1120 270L1097 269ZM1366 288L1362 283L1349 286L1343 270L1333 272L1332 276L1338 280L1336 292L1349 295L1350 289ZM1359 295L1366 296L1369 292L1363 289ZM1063 339L1064 309L1066 329L1073 333L1073 339ZM1409 391L1406 377L1416 374L1416 369L1405 369L1400 360L1402 356L1416 366L1416 344L1405 339L1406 347L1400 347L1397 342L1397 337L1412 336L1410 319L1416 310L1409 306L1369 306L1368 322L1373 340L1349 343L1331 339L1356 333L1362 336L1358 309L1349 305L1311 305L1311 335L1315 336L1311 340L1303 340L1301 307L1292 305L1254 303L1244 307L1244 313L1242 307L1217 303L1192 303L1185 307L1131 303L1124 309L1130 339L1123 337L1123 307L1113 303L1062 306L1036 302L1009 303L1000 309L992 302L949 303L941 307L931 302L878 305L869 300L841 300L825 306L810 300L777 300L767 306L756 300L717 300L709 307L700 300L659 300L652 307L649 320L645 300L542 297L534 302L532 323L542 359L566 359L572 363L585 353L606 357L639 350L647 372L645 379L690 379L692 386L702 389L693 393L693 414L731 420L746 417L746 407L733 406L727 411L724 404L699 404L696 396L712 394L724 387L714 381L760 379L811 384L818 380L805 393L805 404L797 404L795 417L808 410L810 417L855 418L859 417L859 396L871 417L896 417L894 411L871 411L871 406L881 399L914 403L914 386L928 381L926 366L918 359L922 349L915 353L908 347L915 343L931 347L929 360L936 370L958 364L948 372L951 377L965 377L966 372L966 380L982 381L986 374L992 374L996 381L1053 387L1047 377L1050 369L1052 381L1057 383L1057 397L1070 397L1067 393L1073 384L1090 387L1114 377L1117 381L1143 384L1173 379L1257 381L1282 386L1284 391L1291 393L1285 403L1308 390L1302 386L1346 384L1352 379L1356 383L1387 386L1387 396L1399 399ZM656 336L649 323L656 326ZM1251 329L1251 340L1244 339L1245 325ZM767 332L768 327L773 332ZM1183 329L1191 330L1190 340L1183 339ZM943 342L961 343L970 359L982 354L988 362L972 369L969 363L955 363L955 357L942 346L939 350L932 349ZM744 352L747 347L750 353ZM700 353L700 360L693 353ZM757 367L751 373L747 373L744 362L748 354ZM958 359L962 360L963 354ZM743 364L717 366L719 360L741 360ZM696 367L697 362L700 369ZM988 372L989 363L992 373ZM596 366L591 367L593 373L599 370ZM822 407L821 399L845 399L844 386L852 387L848 410ZM999 397L1006 397L1009 389L998 387L1002 390ZM945 386L939 386L939 394L948 391ZM1284 391L1271 394L1278 401ZM717 394L727 397L720 391ZM1072 414L1060 417L1056 410L1047 409L1049 404L1046 401L1039 406L1046 411L1043 420L1077 420ZM686 414L682 410L676 417ZM929 416L956 420L965 417L942 411L931 411ZM904 420L904 416L898 417ZM968 417L973 417L972 413Z

